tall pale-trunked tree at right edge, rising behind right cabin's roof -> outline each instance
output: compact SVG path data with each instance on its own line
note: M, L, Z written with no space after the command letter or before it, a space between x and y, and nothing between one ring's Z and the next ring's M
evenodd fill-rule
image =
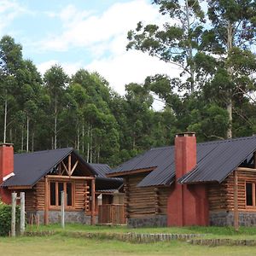
M215 58L216 72L210 84L211 95L223 99L229 113L227 137L232 137L232 109L237 94L255 90L256 3L252 0L208 1L212 27L202 36L201 51ZM202 67L204 68L204 67ZM209 88L207 88L209 90ZM213 92L216 92L213 93Z

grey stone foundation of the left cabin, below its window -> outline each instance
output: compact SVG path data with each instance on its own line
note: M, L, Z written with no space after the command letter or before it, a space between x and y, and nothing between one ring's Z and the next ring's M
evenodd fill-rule
M27 219L29 219L31 214L39 214L40 224L44 224L44 211L38 212L27 212ZM80 223L80 224L90 224L90 216L84 214L84 212L65 212L65 222L66 223ZM96 216L96 224L98 218ZM60 211L49 211L49 224L61 223L61 212Z

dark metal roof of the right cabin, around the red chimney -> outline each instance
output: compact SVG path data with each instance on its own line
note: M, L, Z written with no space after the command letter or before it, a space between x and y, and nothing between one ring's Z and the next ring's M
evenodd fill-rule
M256 137L241 137L209 143L197 143L197 165L179 179L180 183L221 183L256 149ZM170 185L175 177L174 146L152 148L113 169L115 176L129 174L137 169L154 167L139 187Z

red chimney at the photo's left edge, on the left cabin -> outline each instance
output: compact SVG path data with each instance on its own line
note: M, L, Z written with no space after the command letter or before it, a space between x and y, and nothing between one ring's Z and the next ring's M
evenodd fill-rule
M14 147L11 143L0 144L0 184L14 176ZM0 188L0 197L3 202L10 203L8 189Z

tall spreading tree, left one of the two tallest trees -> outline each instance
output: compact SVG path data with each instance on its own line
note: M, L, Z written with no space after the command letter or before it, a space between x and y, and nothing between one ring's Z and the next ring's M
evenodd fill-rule
M135 31L128 32L127 49L139 49L160 60L177 65L186 81L180 84L191 93L195 91L195 55L201 42L204 12L199 0L154 0L160 14L171 18L163 26L146 25L140 21Z

